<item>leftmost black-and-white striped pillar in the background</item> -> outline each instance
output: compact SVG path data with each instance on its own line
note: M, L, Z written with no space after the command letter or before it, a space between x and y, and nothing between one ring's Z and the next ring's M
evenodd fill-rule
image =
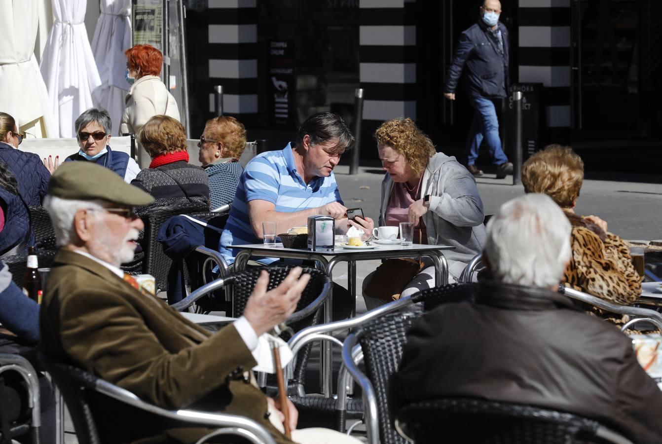
M256 1L209 0L209 81L223 87L223 114L244 125L258 113ZM209 111L214 112L211 91Z

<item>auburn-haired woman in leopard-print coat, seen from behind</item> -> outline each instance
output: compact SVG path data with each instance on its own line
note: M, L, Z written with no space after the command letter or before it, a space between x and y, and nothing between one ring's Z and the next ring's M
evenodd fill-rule
M584 162L569 146L546 146L522 165L524 191L551 197L573 227L565 284L616 304L632 304L641 294L641 277L628 245L608 232L598 216L575 214L583 180Z

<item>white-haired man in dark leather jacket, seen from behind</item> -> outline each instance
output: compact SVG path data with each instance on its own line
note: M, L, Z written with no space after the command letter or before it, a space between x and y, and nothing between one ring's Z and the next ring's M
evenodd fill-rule
M503 204L487 226L491 281L475 302L448 304L416 321L391 378L403 404L481 398L569 412L636 443L662 442L662 393L632 341L558 293L571 226L549 197Z

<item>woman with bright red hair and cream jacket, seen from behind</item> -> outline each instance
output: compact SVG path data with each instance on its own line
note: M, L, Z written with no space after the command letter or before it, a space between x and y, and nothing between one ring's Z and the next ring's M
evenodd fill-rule
M164 56L151 45L136 45L126 54L126 81L132 84L126 95L126 109L120 122L120 136L134 133L152 116L159 114L179 120L179 109L175 98L161 81ZM140 156L142 157L145 156ZM146 165L142 165L144 167Z

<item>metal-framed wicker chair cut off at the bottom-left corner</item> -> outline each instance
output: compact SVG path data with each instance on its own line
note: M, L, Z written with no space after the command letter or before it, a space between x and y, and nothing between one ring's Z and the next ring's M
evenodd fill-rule
M9 353L0 353L0 375L5 372L13 371L18 373L25 381L28 394L28 406L30 406L30 419L9 423L9 419L2 418L2 408L0 407L0 442L14 443L13 438L30 434L32 443L39 442L39 427L41 425L41 410L39 404L39 381L37 380L34 367L22 356ZM1 400L6 402L6 400Z

